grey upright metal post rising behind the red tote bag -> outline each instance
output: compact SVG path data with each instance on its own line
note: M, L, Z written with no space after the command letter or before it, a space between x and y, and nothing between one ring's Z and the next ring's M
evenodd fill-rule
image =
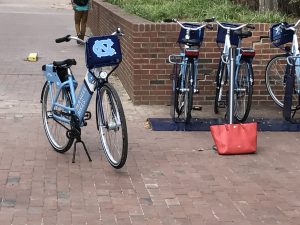
M235 72L235 55L236 47L231 47L229 49L229 59L230 59L230 79L229 79L229 124L233 124L233 96L234 96L234 72Z

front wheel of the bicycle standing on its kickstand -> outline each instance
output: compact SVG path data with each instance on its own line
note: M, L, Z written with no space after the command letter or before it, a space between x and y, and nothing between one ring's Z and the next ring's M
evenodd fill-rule
M96 121L108 162L116 169L122 168L128 152L127 126L121 100L109 83L97 93Z

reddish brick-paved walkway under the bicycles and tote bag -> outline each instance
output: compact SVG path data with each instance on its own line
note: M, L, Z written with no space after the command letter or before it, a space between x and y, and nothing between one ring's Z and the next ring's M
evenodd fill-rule
M80 148L75 164L71 151L53 151L41 120L41 66L74 57L74 72L84 71L82 47L54 43L74 34L65 2L0 0L1 225L300 224L299 133L258 133L257 154L219 156L209 132L148 129L146 119L167 117L168 107L133 106L116 78L128 122L126 166L107 163L93 120L83 129L92 162ZM38 62L23 60L30 52ZM280 116L276 108L252 113Z

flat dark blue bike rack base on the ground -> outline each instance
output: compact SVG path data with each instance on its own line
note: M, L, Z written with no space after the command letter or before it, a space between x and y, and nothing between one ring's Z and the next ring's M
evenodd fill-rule
M174 121L171 118L149 118L150 127L154 131L210 131L211 125L224 124L223 119L192 119L190 124ZM258 131L300 131L300 123L291 123L283 119L249 119L257 122Z

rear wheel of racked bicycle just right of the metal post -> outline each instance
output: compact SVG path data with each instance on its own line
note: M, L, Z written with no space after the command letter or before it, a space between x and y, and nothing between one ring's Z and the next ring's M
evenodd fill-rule
M253 69L242 61L238 67L234 89L234 117L239 122L248 118L253 94Z

